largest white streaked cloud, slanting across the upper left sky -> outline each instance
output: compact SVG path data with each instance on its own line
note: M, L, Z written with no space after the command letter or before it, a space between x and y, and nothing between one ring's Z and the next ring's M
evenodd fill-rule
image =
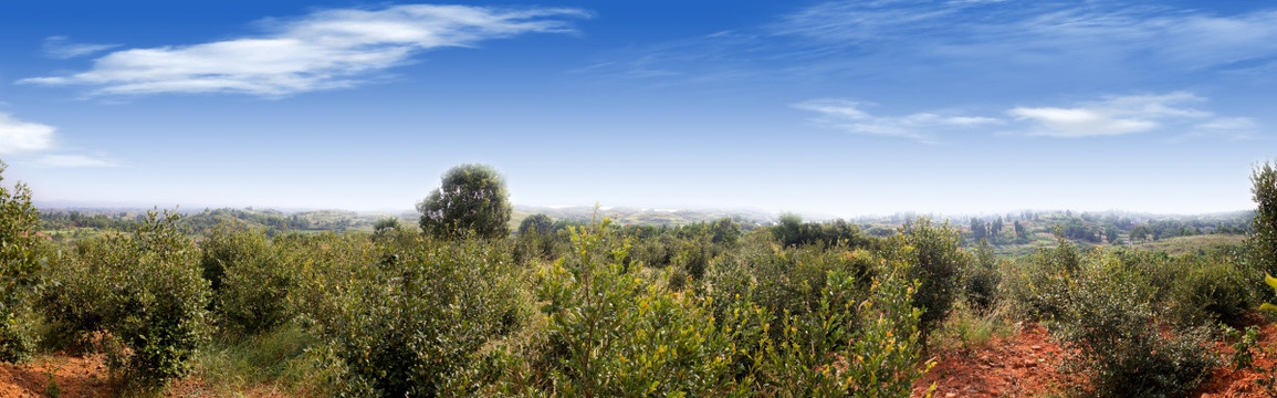
M93 68L19 83L87 85L91 94L241 93L278 97L346 88L410 63L421 51L467 47L524 33L572 32L576 9L397 5L337 9L267 22L268 32L185 46L107 54Z

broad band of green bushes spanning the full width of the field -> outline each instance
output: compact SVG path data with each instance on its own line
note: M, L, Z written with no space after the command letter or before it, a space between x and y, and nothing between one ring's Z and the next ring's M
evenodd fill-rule
M925 218L886 237L548 217L497 237L396 222L269 237L235 223L190 236L152 212L61 246L34 233L18 185L0 189L0 355L103 352L128 390L194 371L321 397L905 397L927 350L1000 316L1077 350L1084 394L1183 395L1223 365L1207 350L1217 325L1272 295L1273 175L1257 171L1246 247L1168 256L1061 237L1019 259Z

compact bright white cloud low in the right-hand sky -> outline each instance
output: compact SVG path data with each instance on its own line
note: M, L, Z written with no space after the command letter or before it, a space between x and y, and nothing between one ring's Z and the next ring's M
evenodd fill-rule
M1184 106L1205 101L1186 92L1160 96L1107 97L1074 107L1015 107L1006 111L1032 125L1029 135L1097 136L1124 135L1176 126L1213 114Z

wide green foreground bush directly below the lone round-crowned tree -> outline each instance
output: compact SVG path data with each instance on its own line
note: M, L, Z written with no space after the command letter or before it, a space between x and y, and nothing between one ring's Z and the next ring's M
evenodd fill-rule
M471 395L456 379L479 348L522 324L506 247L481 241L378 249L315 281L315 332L345 369L344 394Z

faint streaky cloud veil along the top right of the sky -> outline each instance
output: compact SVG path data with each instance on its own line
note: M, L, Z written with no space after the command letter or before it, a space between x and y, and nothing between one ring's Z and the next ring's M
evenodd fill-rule
M904 74L1000 82L1050 73L1102 87L1110 77L1274 63L1272 10L1226 15L1119 1L857 0L819 3L730 34L618 51L594 71L687 82Z

